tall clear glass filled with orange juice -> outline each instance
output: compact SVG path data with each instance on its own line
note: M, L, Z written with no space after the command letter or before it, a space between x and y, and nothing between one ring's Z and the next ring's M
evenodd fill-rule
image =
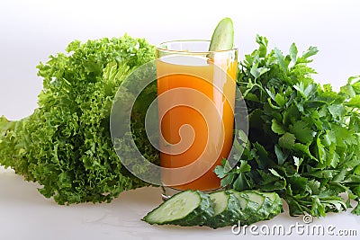
M238 49L209 51L209 40L157 46L157 104L163 198L214 191L213 173L233 142Z

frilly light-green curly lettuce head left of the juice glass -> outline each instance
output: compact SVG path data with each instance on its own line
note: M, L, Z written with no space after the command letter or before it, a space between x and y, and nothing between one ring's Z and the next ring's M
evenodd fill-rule
M121 191L148 185L121 165L109 118L123 79L154 58L152 45L128 35L76 40L67 53L50 56L38 66L43 78L39 108L16 122L0 119L0 164L39 182L40 193L59 204L110 201ZM133 134L144 134L141 128ZM148 139L136 139L157 162Z

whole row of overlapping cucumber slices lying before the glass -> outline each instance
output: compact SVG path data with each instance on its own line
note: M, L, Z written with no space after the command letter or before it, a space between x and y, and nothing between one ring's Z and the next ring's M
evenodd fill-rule
M274 218L283 211L275 192L182 191L163 202L143 218L149 224L208 226L212 228L250 225Z

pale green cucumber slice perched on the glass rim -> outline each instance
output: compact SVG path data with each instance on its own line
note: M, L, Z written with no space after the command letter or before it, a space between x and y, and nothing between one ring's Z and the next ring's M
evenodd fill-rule
M212 33L209 51L232 49L234 45L234 25L229 18L222 19Z

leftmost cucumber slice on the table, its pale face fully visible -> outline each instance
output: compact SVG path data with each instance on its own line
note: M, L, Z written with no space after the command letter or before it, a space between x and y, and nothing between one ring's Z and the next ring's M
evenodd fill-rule
M202 226L214 214L208 194L200 191L182 191L164 201L143 218L149 224Z

